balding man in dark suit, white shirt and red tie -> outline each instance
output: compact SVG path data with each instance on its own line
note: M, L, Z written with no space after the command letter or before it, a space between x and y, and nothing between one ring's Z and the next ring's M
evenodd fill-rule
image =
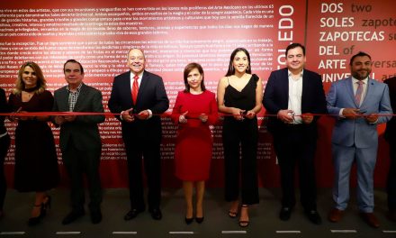
M114 78L109 109L121 114L122 139L127 154L130 183L130 211L125 220L135 218L146 209L144 202L141 160L148 181L148 212L160 220L161 161L159 146L162 137L158 114L169 107L164 82L159 76L145 70L145 56L139 49L128 52L130 71Z

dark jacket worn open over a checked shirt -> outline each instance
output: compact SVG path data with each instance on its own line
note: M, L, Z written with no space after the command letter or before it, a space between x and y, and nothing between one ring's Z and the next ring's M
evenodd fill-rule
M54 93L54 112L68 111L68 91L61 87ZM74 112L103 113L102 93L94 87L82 85L78 95ZM54 120L52 120L53 123ZM104 122L104 115L77 115L74 122L60 126L60 150L67 150L69 140L73 140L78 150L96 150L101 148L102 142L97 124Z

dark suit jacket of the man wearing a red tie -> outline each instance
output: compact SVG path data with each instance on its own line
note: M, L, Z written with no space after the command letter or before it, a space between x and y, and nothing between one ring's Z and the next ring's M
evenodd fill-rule
M120 116L116 117L121 121L122 135L124 133L134 133L140 138L156 138L161 140L161 120L158 115L166 112L169 107L169 100L166 96L164 82L159 76L143 72L141 78L136 105L133 103L130 88L130 71L114 78L112 82L112 94L109 99L109 109L113 114L120 114L122 111L133 108L134 114L139 114L143 110L150 109L154 114L148 120L135 118L132 123L126 123ZM125 138L125 137L124 137Z

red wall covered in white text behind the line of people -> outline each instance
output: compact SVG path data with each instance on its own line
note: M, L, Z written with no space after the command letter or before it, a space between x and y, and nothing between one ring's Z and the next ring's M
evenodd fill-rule
M308 2L308 1L307 1ZM147 69L164 78L166 91L175 101L184 88L183 69L192 61L202 64L205 84L215 92L228 68L229 55L237 47L251 54L252 69L265 84L272 70L284 67L284 49L291 42L307 48L307 69L323 76L326 90L332 81L347 77L348 60L359 50L374 59L373 77L396 75L393 57L396 25L392 1L75 1L58 0L0 3L0 87L14 87L24 61L39 63L49 90L65 85L62 67L77 59L85 67L85 83L103 92L107 110L112 78L126 67L126 53L138 47L146 53ZM279 186L272 138L266 118L260 114L258 174L260 185ZM317 179L330 187L333 178L330 136L333 120L320 119ZM14 136L15 124L7 123ZM175 126L164 119L162 144L164 186L178 187L173 165ZM380 148L375 186L383 187L388 167L388 148L380 126ZM58 129L53 129L58 142ZM220 124L214 126L213 160L209 186L223 186ZM112 117L101 125L102 179L107 188L126 187L126 159L120 124ZM8 183L13 184L14 146L5 161ZM61 165L62 183L67 178Z

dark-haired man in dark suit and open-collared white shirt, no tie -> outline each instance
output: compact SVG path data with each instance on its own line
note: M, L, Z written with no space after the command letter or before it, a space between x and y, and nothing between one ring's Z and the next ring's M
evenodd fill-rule
M279 161L283 191L281 220L287 221L295 205L294 170L298 164L301 202L305 215L320 224L316 207L315 151L318 115L326 114L326 97L320 75L304 69L305 48L293 43L286 48L285 69L273 71L267 81L263 105L269 118Z

